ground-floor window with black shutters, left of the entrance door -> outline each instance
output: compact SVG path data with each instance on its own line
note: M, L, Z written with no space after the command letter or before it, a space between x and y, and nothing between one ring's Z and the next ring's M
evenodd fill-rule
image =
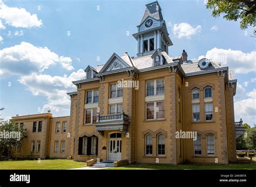
M83 137L83 154L84 155L97 155L97 142L96 136Z

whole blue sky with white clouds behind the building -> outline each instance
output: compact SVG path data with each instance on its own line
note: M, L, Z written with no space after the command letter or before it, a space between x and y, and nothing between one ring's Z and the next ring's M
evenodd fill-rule
M136 56L132 37L145 4L152 1L6 1L0 0L0 107L16 114L52 110L69 115L66 91L84 76L87 65L104 64L113 52ZM203 0L158 1L173 46L189 59L223 57L238 79L235 120L252 126L255 110L255 38L253 28L213 18ZM1 24L2 23L2 24ZM43 60L42 60L43 59Z

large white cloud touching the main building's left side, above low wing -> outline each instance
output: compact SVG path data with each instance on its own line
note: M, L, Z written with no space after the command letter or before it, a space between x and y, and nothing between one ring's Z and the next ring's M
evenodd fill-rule
M73 72L70 76L50 76L32 73L19 78L18 82L25 85L26 89L35 96L44 96L48 103L43 106L41 112L49 109L58 112L59 110L69 110L70 98L66 92L76 90L72 81L80 80L85 76L83 69Z

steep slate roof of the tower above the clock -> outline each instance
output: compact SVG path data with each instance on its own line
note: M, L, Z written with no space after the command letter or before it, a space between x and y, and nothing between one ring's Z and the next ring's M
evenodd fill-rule
M161 8L157 1L146 4L146 9L139 25L141 25L149 16L156 20L163 20Z

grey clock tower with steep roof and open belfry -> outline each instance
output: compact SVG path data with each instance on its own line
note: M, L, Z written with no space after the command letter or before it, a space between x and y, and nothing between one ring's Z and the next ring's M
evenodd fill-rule
M168 47L172 46L172 41L157 1L146 4L143 18L137 27L138 32L133 34L133 37L138 41L138 57L156 51L165 51L168 54Z

